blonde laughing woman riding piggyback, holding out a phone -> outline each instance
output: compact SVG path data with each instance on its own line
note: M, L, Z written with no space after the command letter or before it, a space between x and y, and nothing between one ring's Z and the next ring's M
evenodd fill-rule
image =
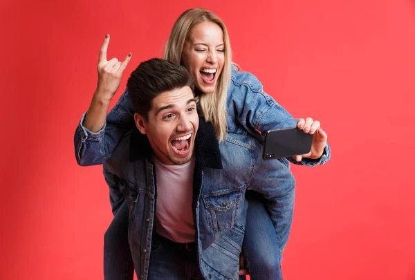
M131 57L130 54L122 63L114 59L107 62L108 42L109 37L105 39L100 54L97 91L89 111L81 121L83 127L80 124L75 133L77 160L80 165L99 164L109 158L121 136L134 125L133 111L126 91L109 113L107 125L104 127L107 109L102 106L108 108L109 100L120 84L122 71ZM234 69L228 32L214 13L200 8L183 12L172 28L164 58L182 64L194 77L200 111L206 120L212 122L219 140L225 140L227 133L249 133L261 140L257 131L297 125L306 133L317 133L311 153L303 157L297 156L291 161L301 162L302 165L317 165L329 159L329 147L325 144L326 133L320 129L319 122L313 122L310 118L299 119L297 122L272 97L264 93L256 77ZM94 135L98 135L96 132L102 127L104 138L94 141ZM92 138L93 141L88 142L87 138ZM88 151L91 149L100 149L102 156L89 158ZM271 160L269 164L275 166L276 173L290 173L291 176L288 160ZM243 250L252 280L282 279L279 264L291 228L295 182L274 180L270 182L270 187L281 189L278 205L268 207L268 211L278 213L278 218L274 221L276 227L268 216L264 198L252 193L246 196L249 207ZM115 193L111 195L111 204L116 216L105 234L104 274L106 279L120 279L123 274L132 279L133 270L127 241L127 207Z

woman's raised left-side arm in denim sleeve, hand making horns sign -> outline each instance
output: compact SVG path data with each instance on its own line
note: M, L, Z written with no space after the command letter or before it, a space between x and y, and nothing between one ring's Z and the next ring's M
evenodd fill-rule
M121 137L133 127L133 110L127 91L107 115L111 99L120 86L122 72L131 59L124 62L107 60L109 35L106 35L98 60L98 84L89 109L75 130L75 158L79 165L99 165L111 156Z

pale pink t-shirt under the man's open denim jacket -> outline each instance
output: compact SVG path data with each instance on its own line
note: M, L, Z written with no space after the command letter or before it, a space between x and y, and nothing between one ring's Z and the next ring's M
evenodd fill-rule
M194 158L184 165L156 165L156 232L178 243L194 241L192 213Z

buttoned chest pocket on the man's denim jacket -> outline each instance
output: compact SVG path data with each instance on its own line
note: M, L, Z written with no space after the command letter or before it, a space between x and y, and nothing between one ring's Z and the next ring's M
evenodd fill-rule
M229 230L233 227L241 199L241 191L234 189L205 194L203 203L205 203L209 227L214 230Z

